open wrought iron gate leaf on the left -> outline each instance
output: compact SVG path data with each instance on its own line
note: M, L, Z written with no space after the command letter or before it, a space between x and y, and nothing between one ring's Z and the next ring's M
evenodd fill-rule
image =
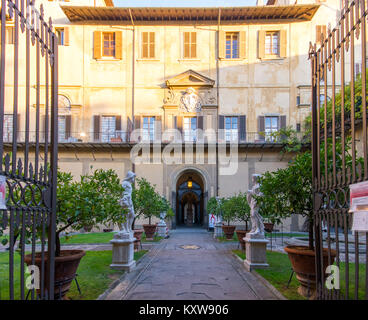
M54 297L57 45L42 5L1 0L0 299Z

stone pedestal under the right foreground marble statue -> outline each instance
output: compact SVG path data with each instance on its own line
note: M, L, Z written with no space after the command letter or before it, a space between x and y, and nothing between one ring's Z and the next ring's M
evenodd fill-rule
M266 259L268 240L265 239L263 235L252 235L247 233L244 241L246 250L246 260L244 261L245 268L248 271L268 268L269 265Z

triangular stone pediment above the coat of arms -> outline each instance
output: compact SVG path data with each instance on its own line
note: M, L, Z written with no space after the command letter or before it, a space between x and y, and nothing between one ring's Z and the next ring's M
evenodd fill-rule
M175 77L172 77L166 80L166 85L168 88L173 87L213 87L215 84L215 80L212 80L198 72L193 70L188 70L183 73L178 74Z

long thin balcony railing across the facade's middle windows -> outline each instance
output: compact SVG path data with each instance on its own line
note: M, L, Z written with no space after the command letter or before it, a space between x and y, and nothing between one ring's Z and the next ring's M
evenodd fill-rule
M12 133L7 132L3 135L4 143L12 142ZM205 132L191 131L190 135L185 134L184 132L180 134L179 131L173 131L172 134L165 132L161 139L156 134L153 140L148 140L147 137L151 137L152 135L145 135L131 133L127 131L115 131L115 132L72 132L68 137L60 136L59 134L59 143L67 144L67 143L99 143L99 144L135 144L135 143L238 143L238 144L280 144L285 142L285 139L280 137L276 138L273 136L265 136L264 134L260 134L258 132L244 132L242 134L236 134L231 132L228 134L226 130L219 130L218 132L212 131L212 135L208 135ZM298 139L303 142L304 134L302 132L298 133ZM17 142L22 143L25 142L26 134L25 132L18 132L17 134ZM36 132L29 132L29 142L35 143L37 141ZM45 133L40 132L38 137L39 143L45 142ZM48 135L48 141L51 141L50 134ZM307 142L306 140L304 142Z

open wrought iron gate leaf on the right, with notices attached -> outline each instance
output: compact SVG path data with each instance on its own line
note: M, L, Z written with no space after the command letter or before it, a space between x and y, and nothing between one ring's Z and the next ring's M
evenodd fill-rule
M349 185L368 180L367 14L365 0L346 1L337 27L310 46L319 299L368 299L368 233L351 231L349 213ZM340 287L327 288L333 264Z

